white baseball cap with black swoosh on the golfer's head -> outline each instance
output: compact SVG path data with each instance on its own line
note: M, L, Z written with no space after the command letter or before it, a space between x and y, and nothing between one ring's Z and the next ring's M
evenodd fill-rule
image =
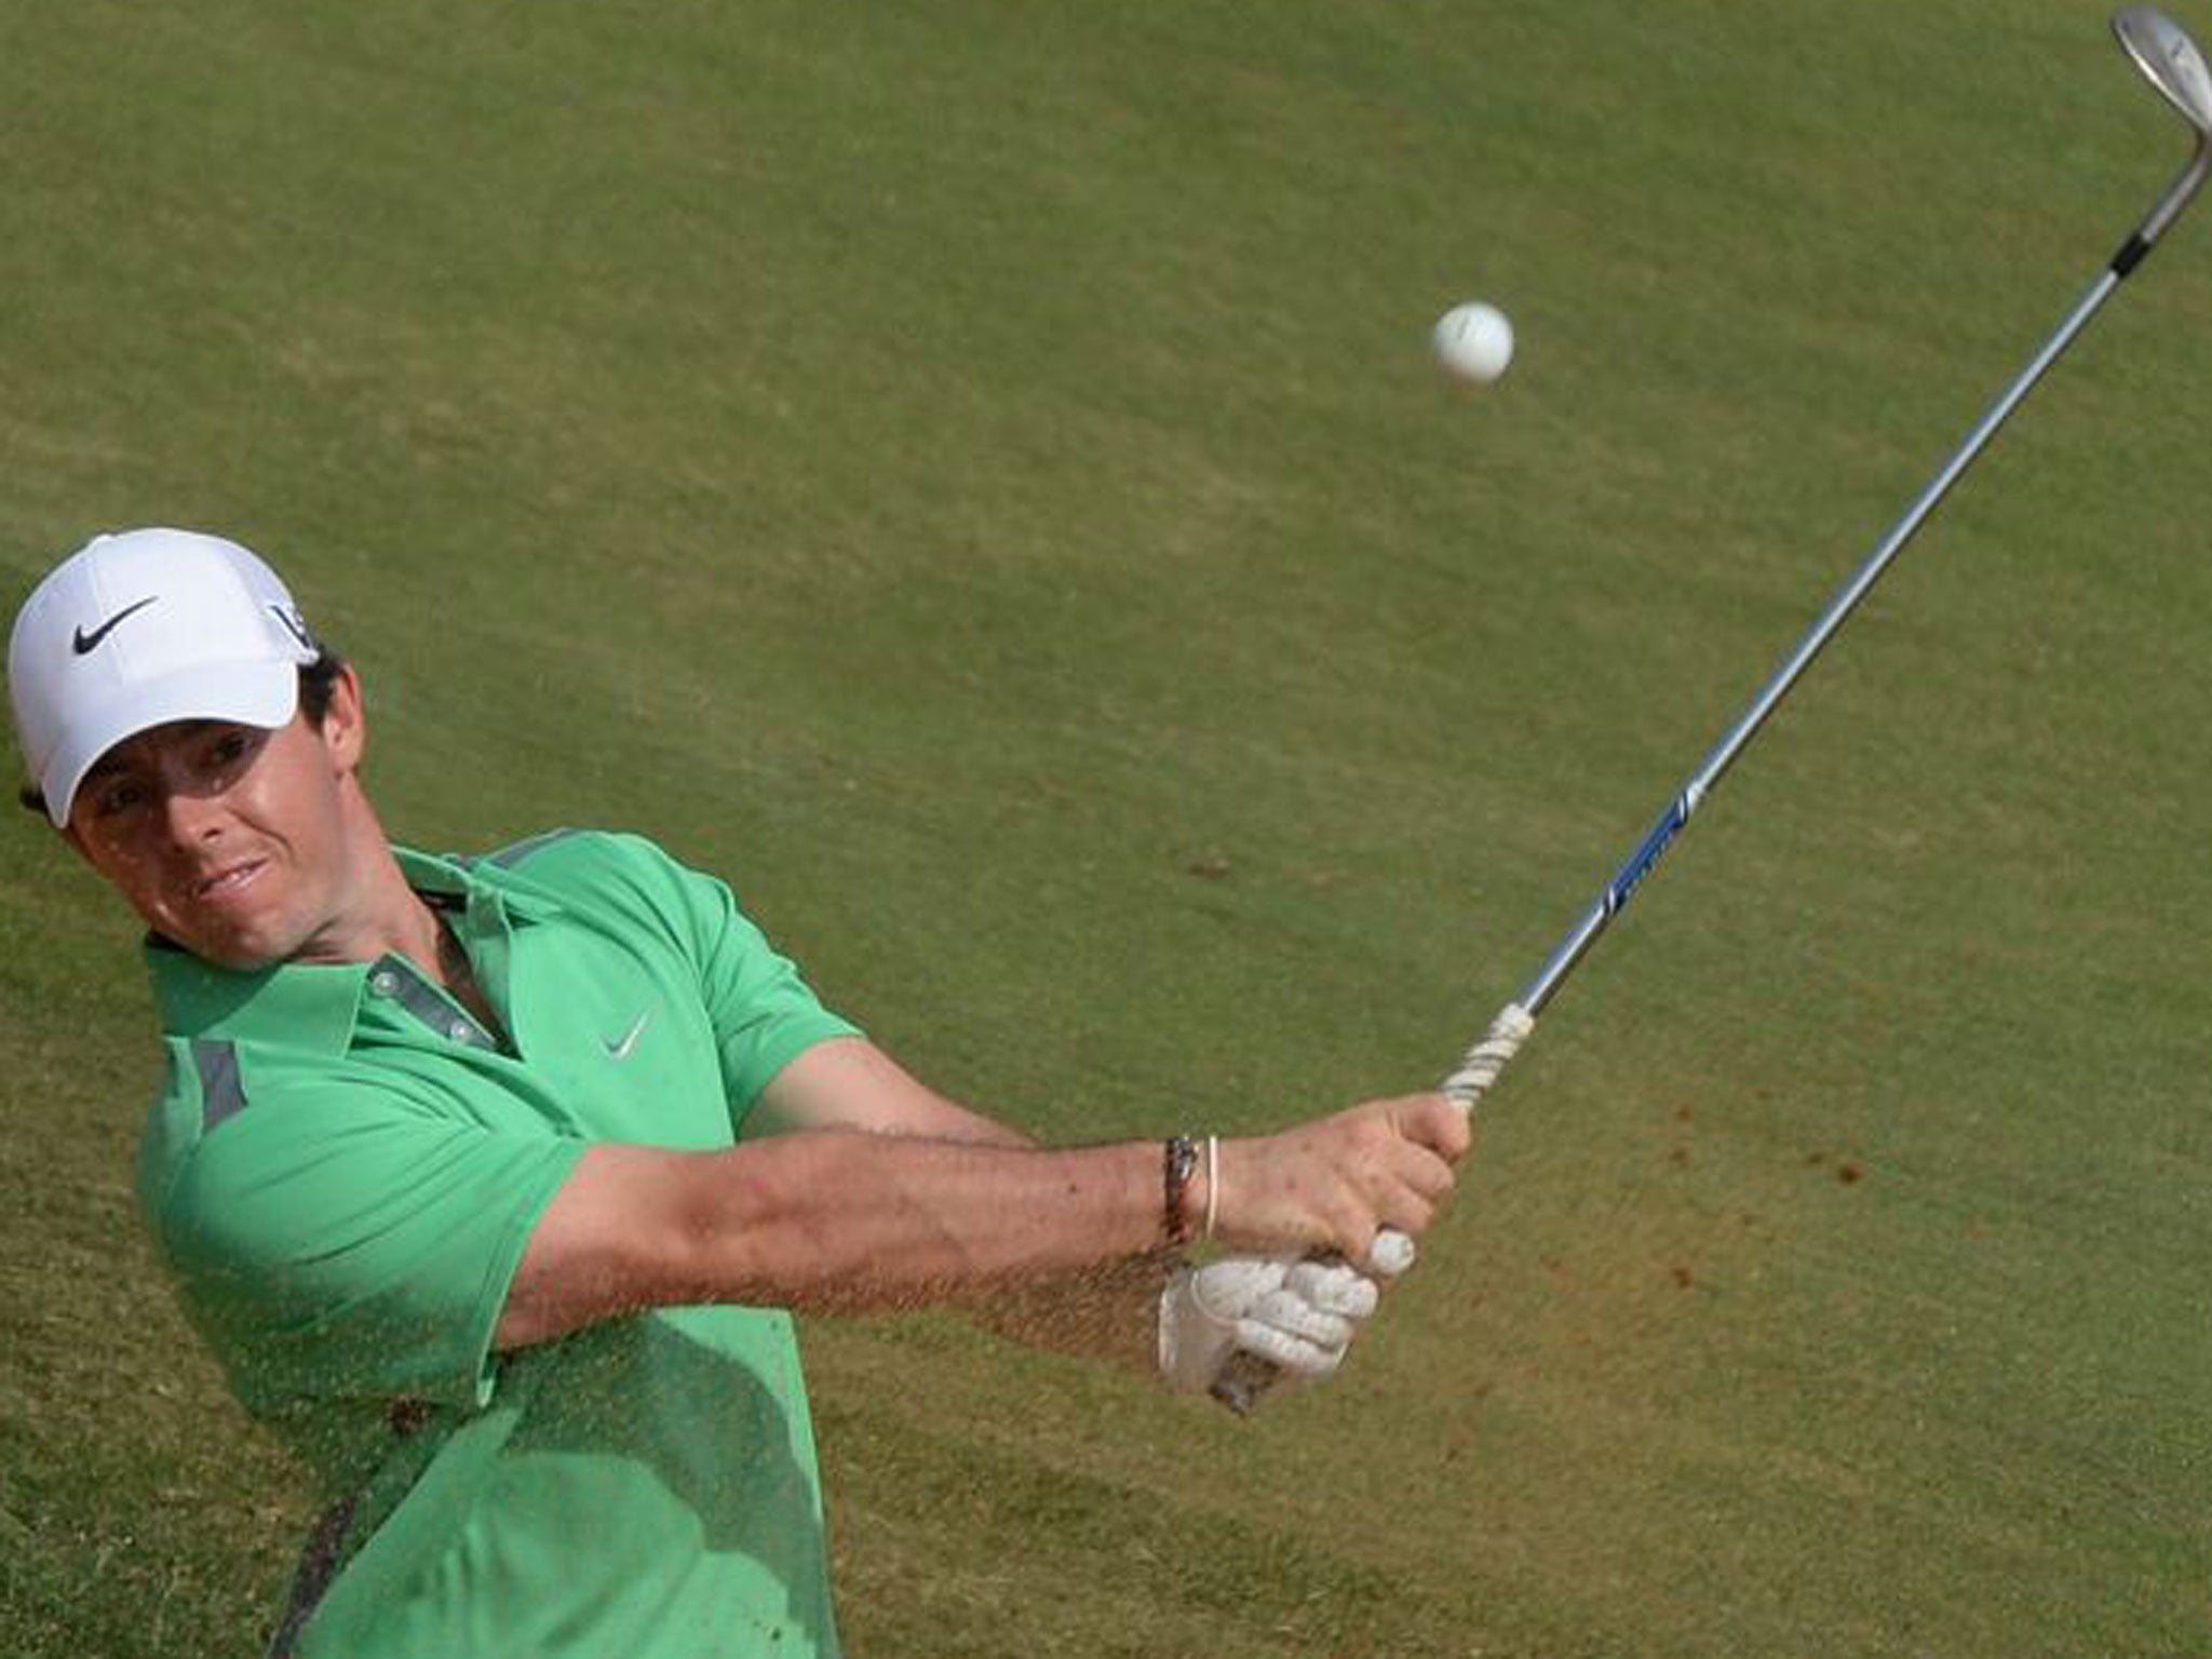
M314 635L276 573L192 531L95 535L58 564L7 646L15 741L55 827L93 763L168 721L276 728Z

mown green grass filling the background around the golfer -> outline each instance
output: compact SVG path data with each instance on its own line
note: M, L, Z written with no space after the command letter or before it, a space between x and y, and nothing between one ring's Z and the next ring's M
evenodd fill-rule
M1960 0L75 0L0 111L9 602L241 535L396 834L653 832L1051 1137L1433 1079L2185 155L2101 15ZM2203 1646L2208 261L1745 757L1336 1385L810 1327L860 1659ZM248 1652L301 1528L137 1239L131 940L4 832L27 1659Z

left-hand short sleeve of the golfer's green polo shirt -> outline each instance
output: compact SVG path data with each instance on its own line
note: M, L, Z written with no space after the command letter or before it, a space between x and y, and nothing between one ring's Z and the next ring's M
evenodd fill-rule
M188 1144L148 1221L239 1398L489 1400L509 1283L582 1144L361 1082L254 1088L250 1060L246 1104L197 1128L192 1066L173 1077Z

